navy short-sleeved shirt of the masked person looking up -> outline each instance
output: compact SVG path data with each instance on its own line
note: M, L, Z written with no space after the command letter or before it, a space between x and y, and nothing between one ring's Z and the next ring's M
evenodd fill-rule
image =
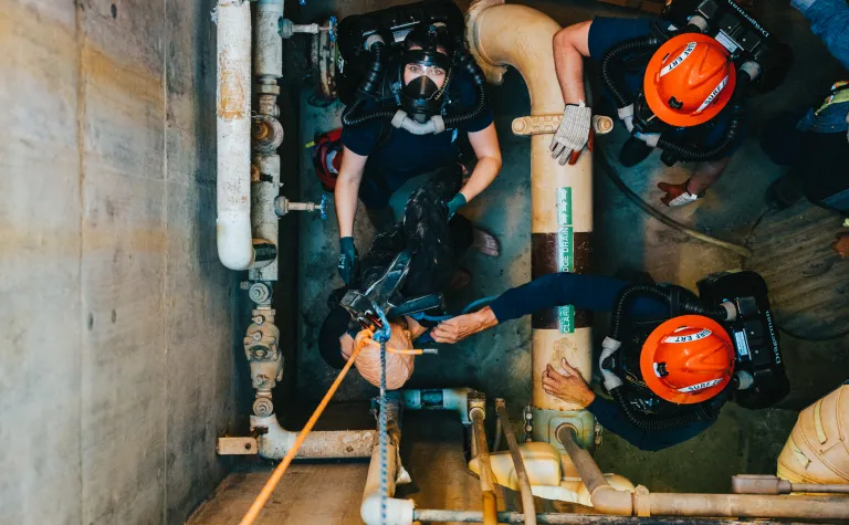
M478 102L478 91L469 74L454 73L448 96L457 102L451 104L450 114L470 111ZM365 111L373 108L375 104L366 105ZM379 120L345 126L342 144L355 154L368 157L359 198L368 208L386 208L389 197L409 179L457 162L459 141L464 138L460 134L480 132L490 124L492 111L486 107L476 118L437 135L412 135L394 128L389 122Z

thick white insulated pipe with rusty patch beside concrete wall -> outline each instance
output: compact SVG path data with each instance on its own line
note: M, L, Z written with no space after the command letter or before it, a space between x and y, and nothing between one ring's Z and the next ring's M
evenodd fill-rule
M216 124L218 258L230 270L255 262L251 232L251 7L217 7Z

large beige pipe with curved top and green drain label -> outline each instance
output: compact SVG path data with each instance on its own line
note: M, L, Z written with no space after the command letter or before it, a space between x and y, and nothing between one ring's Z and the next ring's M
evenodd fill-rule
M504 66L518 70L531 95L532 116L560 115L563 95L554 70L553 39L560 25L525 6L478 0L469 8L467 41L490 82L500 83ZM531 137L531 274L588 271L593 232L593 158L585 151L575 166L560 166L548 149L552 135ZM532 317L533 406L578 410L545 393L545 366L565 357L589 380L593 372L590 318L573 307Z

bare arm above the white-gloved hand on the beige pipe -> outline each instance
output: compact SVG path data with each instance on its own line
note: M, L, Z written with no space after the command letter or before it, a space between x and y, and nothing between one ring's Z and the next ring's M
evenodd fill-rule
M587 102L584 92L584 57L589 56L589 27L586 21L563 28L554 35L554 67L565 104Z

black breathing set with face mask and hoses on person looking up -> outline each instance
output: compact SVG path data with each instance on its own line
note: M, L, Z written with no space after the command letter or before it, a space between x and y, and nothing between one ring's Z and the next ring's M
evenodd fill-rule
M345 126L374 120L413 135L438 134L478 117L486 108L485 77L462 42L463 14L450 0L424 1L345 18L338 27L340 88L347 107ZM398 78L391 90L387 77ZM407 65L422 74L403 83ZM434 72L440 72L438 77ZM474 105L452 107L448 87L452 72L469 75L476 91ZM409 76L409 75L408 75ZM440 81L444 77L444 82ZM365 109L366 102L376 102Z

